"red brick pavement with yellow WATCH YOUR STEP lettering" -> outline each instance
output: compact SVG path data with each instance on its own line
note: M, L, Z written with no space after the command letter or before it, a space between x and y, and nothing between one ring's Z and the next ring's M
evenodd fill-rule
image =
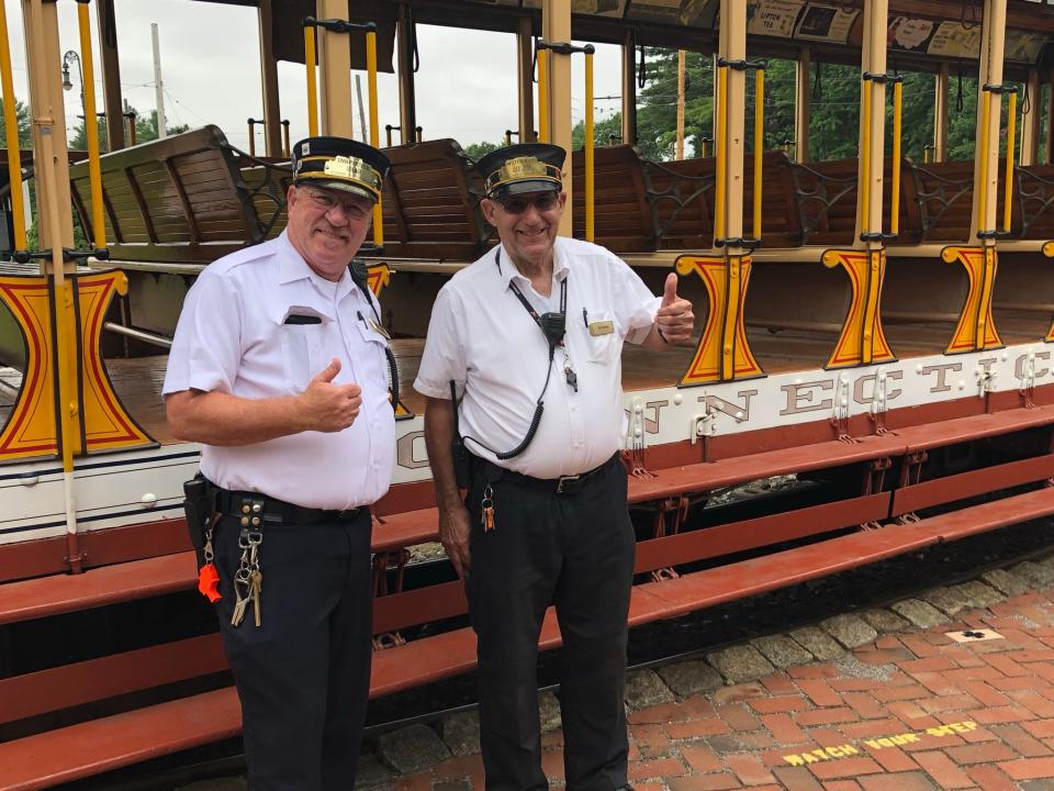
M955 643L988 628L999 639ZM638 791L1054 791L1054 590L632 712ZM562 783L560 732L545 769ZM478 755L393 781L482 789Z

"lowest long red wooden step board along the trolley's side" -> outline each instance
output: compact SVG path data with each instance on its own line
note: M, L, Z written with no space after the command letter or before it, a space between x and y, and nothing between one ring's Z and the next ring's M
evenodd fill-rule
M893 524L765 557L633 588L630 626L804 582L1054 514L1054 488L995 500L909 524ZM460 583L449 583L460 587ZM218 643L218 636L197 638ZM539 648L560 645L550 609ZM213 646L215 647L215 646ZM148 649L157 651L157 648ZM475 634L460 628L377 651L370 697L441 681L475 667ZM218 669L218 668L215 668ZM31 791L236 736L240 713L225 688L0 744L0 791Z

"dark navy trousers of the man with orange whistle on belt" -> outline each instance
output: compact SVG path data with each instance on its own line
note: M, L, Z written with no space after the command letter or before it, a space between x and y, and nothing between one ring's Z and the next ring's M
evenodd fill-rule
M214 537L216 604L242 701L250 791L347 791L355 786L372 653L370 513L350 522L264 525L261 625L237 627L232 580L239 526Z

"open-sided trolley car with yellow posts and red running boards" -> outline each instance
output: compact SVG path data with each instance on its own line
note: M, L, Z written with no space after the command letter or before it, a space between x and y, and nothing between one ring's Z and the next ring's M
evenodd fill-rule
M284 225L278 59L311 64L312 132L347 136L348 66L365 65L380 145L378 63L399 75L400 129L417 127L415 24L514 33L519 140L568 149L571 63L586 59L585 146L569 157L561 232L617 252L655 291L677 271L697 316L693 347L623 357L632 625L1054 513L1051 4L231 1L259 10L266 152L238 151L208 125L126 145L112 0L92 0L78 2L85 81L101 64L110 153L98 154L88 124L92 151L71 165L55 122L55 5L22 0L42 253L20 222L30 158L12 146L12 244L0 264L0 789L238 733L218 635L171 615L195 595L181 483L198 448L172 439L159 390L195 275ZM5 100L7 33L0 25ZM592 53L575 42L623 47L618 145L593 141ZM649 159L635 145L641 46L713 55L709 156ZM772 58L796 64L794 127L778 131L793 154L764 146ZM809 157L820 63L852 65L859 78L855 157ZM901 151L905 70L933 80L921 160ZM963 161L948 158L956 73L976 81ZM4 109L14 141L13 102ZM457 620L461 583L442 561L428 576L408 562L408 547L437 536L410 385L433 299L496 236L459 143L410 137L386 148L392 170L365 250L402 385L397 466L373 528L374 697L468 671L475 657ZM72 249L74 213L89 249ZM794 477L787 497L713 508L729 488L775 476ZM455 625L419 628L437 622ZM559 640L547 620L542 647Z

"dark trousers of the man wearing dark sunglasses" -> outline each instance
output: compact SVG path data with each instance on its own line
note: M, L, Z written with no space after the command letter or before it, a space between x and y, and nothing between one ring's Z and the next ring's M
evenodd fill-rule
M466 580L479 638L480 727L487 791L546 789L538 720L538 638L556 605L563 637L560 711L569 791L627 782L626 621L635 539L626 468L616 458L573 494L476 465ZM493 490L494 528L480 503Z

